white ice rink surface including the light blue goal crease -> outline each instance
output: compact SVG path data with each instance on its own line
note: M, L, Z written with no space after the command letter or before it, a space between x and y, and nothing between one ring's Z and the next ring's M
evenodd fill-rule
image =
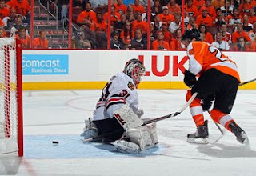
M231 113L246 131L250 146L242 146L228 131L222 137L206 113L210 143L186 142L186 134L195 131L186 109L177 117L157 122L158 146L137 155L81 142L84 120L92 115L100 94L101 90L24 92L24 157L0 158L0 174L256 175L255 90L238 90ZM138 90L138 95L143 118L170 114L186 103L186 90Z

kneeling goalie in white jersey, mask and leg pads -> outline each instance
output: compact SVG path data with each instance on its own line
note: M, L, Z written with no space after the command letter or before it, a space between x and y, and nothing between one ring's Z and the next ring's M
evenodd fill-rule
M145 66L136 58L126 62L123 72L110 78L98 100L94 118L81 134L83 138L104 135L104 141L117 150L139 153L158 143L156 125L141 126L143 111L138 110L137 87L145 75Z

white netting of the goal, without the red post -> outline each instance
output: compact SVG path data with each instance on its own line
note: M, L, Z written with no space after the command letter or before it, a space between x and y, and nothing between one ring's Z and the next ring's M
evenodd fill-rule
M0 154L18 151L15 38L0 38Z

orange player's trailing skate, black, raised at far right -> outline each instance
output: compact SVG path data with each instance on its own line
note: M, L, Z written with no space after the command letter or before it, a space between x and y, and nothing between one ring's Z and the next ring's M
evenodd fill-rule
M242 144L249 144L249 138L246 135L246 132L242 130L235 122L230 122L229 125L231 132L237 137L238 142Z

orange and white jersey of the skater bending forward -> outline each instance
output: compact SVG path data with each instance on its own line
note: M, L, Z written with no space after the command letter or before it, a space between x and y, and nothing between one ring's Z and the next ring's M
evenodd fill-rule
M194 74L202 74L211 68L217 69L224 74L229 74L237 78L240 82L238 67L222 54L216 46L206 42L191 42L187 46L187 55L189 56L189 71Z

